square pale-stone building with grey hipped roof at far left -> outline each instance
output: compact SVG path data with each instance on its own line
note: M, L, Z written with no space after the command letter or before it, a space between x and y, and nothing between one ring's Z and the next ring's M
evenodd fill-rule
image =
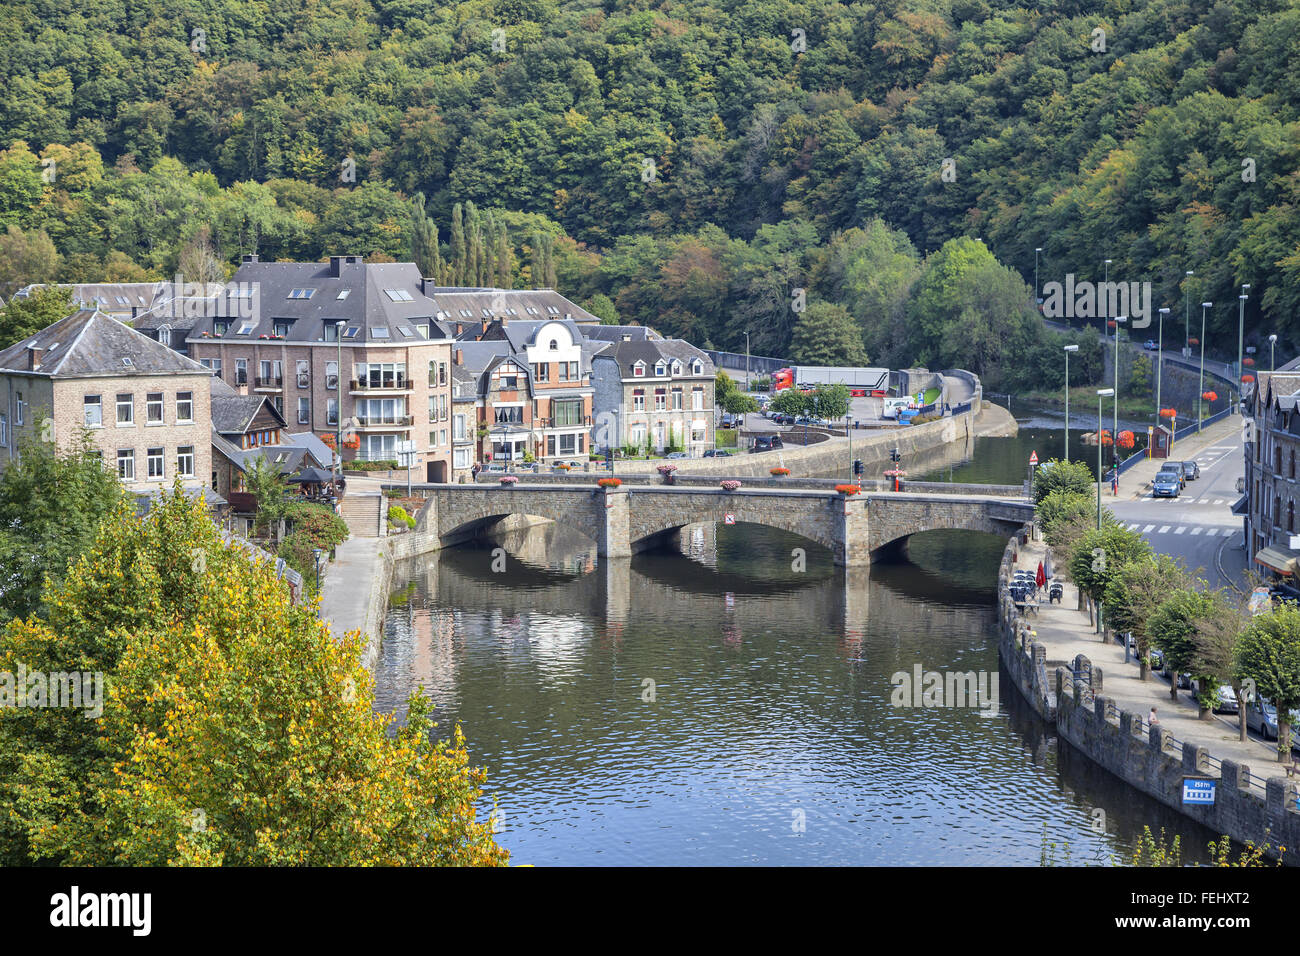
M127 490L212 472L211 375L96 310L81 310L0 351L0 467L32 436L66 449L84 427Z

